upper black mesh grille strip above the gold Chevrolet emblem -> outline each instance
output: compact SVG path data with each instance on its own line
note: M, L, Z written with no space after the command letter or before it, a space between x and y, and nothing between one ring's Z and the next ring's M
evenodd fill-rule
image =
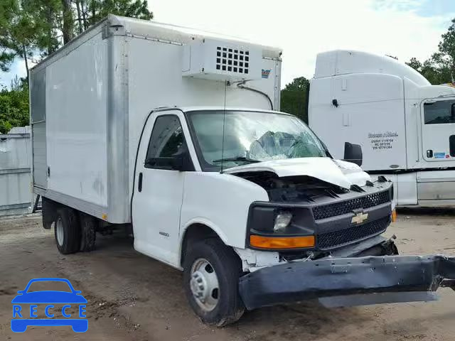
M321 220L330 217L336 217L337 215L346 215L350 212L353 212L353 210L358 210L359 208L365 209L368 207L384 204L385 202L389 201L389 190L383 190L382 192L365 195L363 197L356 197L355 199L351 200L316 206L313 208L314 219Z

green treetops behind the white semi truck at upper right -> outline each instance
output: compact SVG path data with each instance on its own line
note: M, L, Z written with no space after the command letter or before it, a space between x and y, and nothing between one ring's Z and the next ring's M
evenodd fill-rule
M434 85L455 82L455 18L447 32L441 36L437 53L424 63L420 63L417 58L411 58L406 64L419 71Z

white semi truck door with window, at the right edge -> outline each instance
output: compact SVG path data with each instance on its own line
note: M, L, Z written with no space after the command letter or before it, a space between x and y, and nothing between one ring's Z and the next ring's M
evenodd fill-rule
M422 153L426 161L455 158L455 99L422 103Z

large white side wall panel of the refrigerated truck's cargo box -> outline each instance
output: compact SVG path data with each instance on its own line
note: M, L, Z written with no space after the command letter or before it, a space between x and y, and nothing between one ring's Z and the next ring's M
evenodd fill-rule
M107 40L101 33L46 68L48 188L107 205Z

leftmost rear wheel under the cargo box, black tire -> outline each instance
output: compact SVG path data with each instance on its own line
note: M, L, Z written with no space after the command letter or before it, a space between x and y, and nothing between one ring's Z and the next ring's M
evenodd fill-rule
M60 254L73 254L80 248L80 224L77 212L60 208L55 217L55 243Z

